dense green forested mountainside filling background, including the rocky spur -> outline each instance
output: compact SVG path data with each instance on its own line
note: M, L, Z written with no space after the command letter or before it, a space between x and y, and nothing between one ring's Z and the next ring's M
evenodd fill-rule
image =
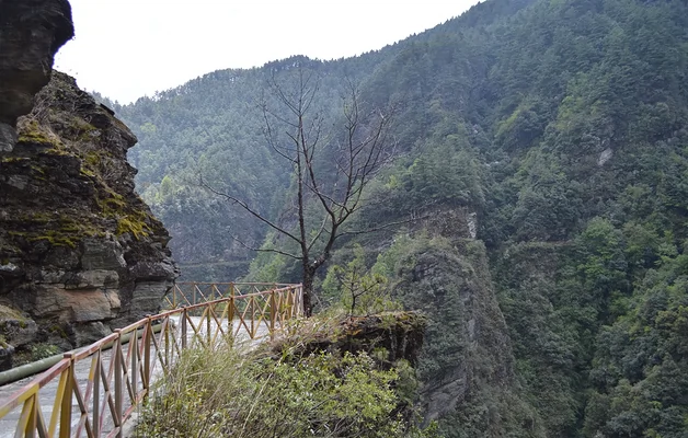
M299 279L248 249L278 233L198 184L290 227L293 169L261 103L295 71L319 81L312 114L332 138L349 83L367 108L395 108L394 152L349 230L399 224L343 237L326 268L360 244L370 275L431 315L422 403L445 436L688 436L685 1L486 0L356 58L216 71L113 104L186 279Z

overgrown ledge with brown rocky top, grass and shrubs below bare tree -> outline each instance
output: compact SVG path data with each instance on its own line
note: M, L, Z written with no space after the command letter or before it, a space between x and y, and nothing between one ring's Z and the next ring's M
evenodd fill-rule
M435 437L413 426L416 353L424 320L316 316L277 344L184 351L137 426L145 437ZM367 327L367 330L362 330ZM401 334L405 351L385 346ZM399 357L395 355L399 354Z

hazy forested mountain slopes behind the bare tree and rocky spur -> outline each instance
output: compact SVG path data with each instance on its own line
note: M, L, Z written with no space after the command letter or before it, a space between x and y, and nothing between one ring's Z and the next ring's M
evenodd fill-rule
M679 419L688 415L680 395L686 387L673 376L687 369L679 353L686 338L683 308L688 307L683 264L688 249L687 28L688 3L680 0L490 0L382 50L308 66L321 78L309 115L322 115L323 132L326 120L344 126L333 108L341 114L345 74L360 81L367 103L404 103L394 115L393 165L367 186L366 208L339 231L401 220L414 210L477 214L477 239L488 247L516 378L534 407L532 424L546 430L541 436L685 434ZM220 207L229 209L223 201L213 216L181 215L186 192L170 191L161 180L168 174L179 182L174 175L185 171L183 159L190 153L205 154L227 175L216 189L260 206L260 214L299 238L297 178L285 172L294 166L275 165L275 158L289 161L268 153L260 129L264 120L245 111L259 99L264 74L279 66L295 73L294 59L220 71L185 85L187 91L125 107L136 113L141 139L140 152L129 152L139 157L139 184L160 186L164 211L174 212L161 216L176 235L172 245L183 242L184 233L193 237L190 241L203 233L207 238L198 241L229 247L221 241L225 229L240 233L234 218L222 212ZM273 113L283 114L276 107L284 104L270 103ZM172 115L185 106L198 115L177 129L180 117ZM294 145L282 127L274 134ZM323 135L313 159L323 189L334 181L343 187L332 164L343 132L329 134L333 141ZM215 174L204 176L217 182ZM283 192L289 184L293 191ZM324 216L310 188L305 186L303 194L312 238ZM290 209L283 211L285 205ZM194 204L203 211L199 207ZM218 227L206 226L209 221ZM462 238L459 222L448 222L452 228L442 231ZM355 243L366 252L366 267L386 247L406 253L424 227L422 221L409 227L394 235L397 243L385 235L337 239L332 264L347 266ZM265 237L264 229L243 234L248 245ZM300 254L296 241L272 234L277 237L268 237L265 247ZM246 235L254 235L252 242ZM323 234L311 261L325 243ZM236 249L241 252L233 257L248 255L244 247ZM175 249L175 254L184 253ZM221 256L229 260L227 254ZM296 280L300 261L273 255L256 258L267 261L256 263L265 274L261 279ZM389 285L398 280L394 266L385 275ZM442 302L425 288L413 293L417 301L412 303ZM449 316L438 315L438 326L448 326ZM434 360L460 361L451 346L428 345ZM425 376L431 382L444 378L434 370ZM680 396L672 392L675 388ZM485 395L478 402L491 400ZM457 410L468 412L465 405ZM446 424L455 423L444 422L444 429L454 430ZM465 430L456 424L451 436L470 436Z

